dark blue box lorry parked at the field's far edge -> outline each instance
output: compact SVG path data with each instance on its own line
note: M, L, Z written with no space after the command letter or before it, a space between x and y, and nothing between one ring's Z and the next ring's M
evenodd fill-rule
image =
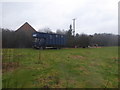
M66 36L62 34L35 32L33 38L34 48L61 48L66 45Z

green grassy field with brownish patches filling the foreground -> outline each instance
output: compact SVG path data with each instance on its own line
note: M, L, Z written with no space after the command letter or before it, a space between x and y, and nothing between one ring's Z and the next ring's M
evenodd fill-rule
M3 88L117 88L118 48L3 49Z

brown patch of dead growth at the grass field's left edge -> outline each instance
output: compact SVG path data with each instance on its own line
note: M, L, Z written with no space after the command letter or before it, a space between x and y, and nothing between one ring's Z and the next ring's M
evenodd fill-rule
M19 63L18 62L2 63L2 72L4 73L4 72L8 72L8 71L13 71L17 67L19 67Z

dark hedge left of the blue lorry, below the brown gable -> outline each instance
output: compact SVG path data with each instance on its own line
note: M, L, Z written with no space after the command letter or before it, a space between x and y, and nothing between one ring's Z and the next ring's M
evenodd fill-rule
M24 32L2 29L2 48L31 48L33 38Z

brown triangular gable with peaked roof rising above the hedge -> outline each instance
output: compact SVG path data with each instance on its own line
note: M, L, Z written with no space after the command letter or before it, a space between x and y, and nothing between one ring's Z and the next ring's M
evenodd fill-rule
M32 31L32 32L36 32L36 30L28 23L25 22L20 28L18 28L15 32L18 31Z

